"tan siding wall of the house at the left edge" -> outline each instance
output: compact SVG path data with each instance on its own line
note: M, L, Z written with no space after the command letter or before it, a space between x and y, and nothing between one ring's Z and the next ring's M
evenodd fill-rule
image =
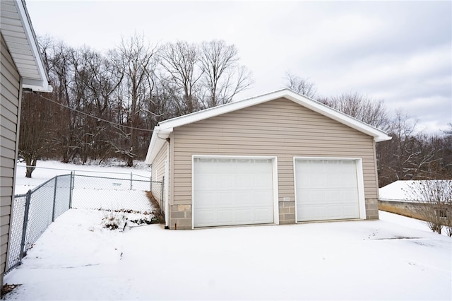
M20 76L1 36L0 69L0 284L6 267L8 232L16 167Z

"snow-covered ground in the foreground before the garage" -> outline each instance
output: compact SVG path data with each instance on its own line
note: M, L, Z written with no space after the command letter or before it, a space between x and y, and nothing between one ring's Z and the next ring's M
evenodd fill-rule
M381 220L164 230L101 227L71 209L49 226L5 300L451 300L452 240Z

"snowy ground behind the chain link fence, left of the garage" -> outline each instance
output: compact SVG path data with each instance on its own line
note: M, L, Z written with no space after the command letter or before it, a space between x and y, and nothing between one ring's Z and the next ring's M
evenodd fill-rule
M150 167L141 161L133 167L126 167L115 166L114 163L74 165L38 160L31 179L25 177L25 163L18 163L15 194L25 194L52 177L69 175L71 172L76 175L73 182L73 208L152 211L144 192L150 190L149 182L145 182L150 179ZM133 190L130 190L130 179L134 180Z

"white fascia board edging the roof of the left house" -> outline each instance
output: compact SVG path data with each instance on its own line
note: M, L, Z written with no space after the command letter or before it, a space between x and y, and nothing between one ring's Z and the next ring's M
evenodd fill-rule
M37 46L37 39L35 35L35 30L33 30L30 16L26 8L24 0L16 0L16 7L18 9L18 14L20 16L20 21L22 22L23 30L27 36L28 44L30 45L30 50L35 61L37 71L40 73L40 79L35 78L23 78L23 88L31 89L38 92L52 93L53 88L49 85L49 78L47 76L47 71L44 68L44 62L42 61L41 52Z

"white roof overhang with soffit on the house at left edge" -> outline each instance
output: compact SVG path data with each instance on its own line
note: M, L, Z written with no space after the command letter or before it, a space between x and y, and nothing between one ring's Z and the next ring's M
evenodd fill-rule
M0 31L22 77L23 88L52 92L25 0L1 1Z

